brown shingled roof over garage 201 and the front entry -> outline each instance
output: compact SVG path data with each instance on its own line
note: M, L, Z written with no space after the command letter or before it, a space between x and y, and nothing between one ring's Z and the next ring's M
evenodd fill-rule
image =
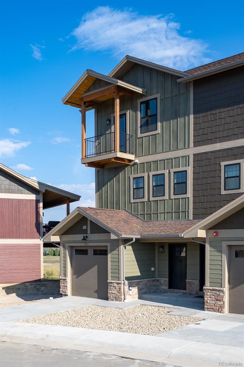
M50 236L64 233L65 230L79 220L81 215L84 215L120 238L183 237L182 233L184 230L199 223L198 220L146 222L127 210L77 207L68 217L64 218L63 221L48 232L44 237L44 241L50 241Z

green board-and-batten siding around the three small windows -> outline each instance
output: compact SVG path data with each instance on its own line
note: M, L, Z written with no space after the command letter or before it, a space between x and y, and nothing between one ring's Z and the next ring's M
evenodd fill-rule
M189 218L189 198L170 199L170 172L168 174L168 199L149 200L149 175L147 177L147 201L130 202L130 175L149 173L172 168L189 167L189 156L139 163L130 166L106 168L97 171L98 208L124 208L148 220Z

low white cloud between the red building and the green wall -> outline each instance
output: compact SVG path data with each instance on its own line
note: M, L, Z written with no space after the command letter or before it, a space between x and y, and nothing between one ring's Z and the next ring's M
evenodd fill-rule
M80 201L75 201L75 203L70 204L70 211L73 211L78 206L95 207L95 182L78 185L63 183L56 186L60 189L81 195ZM48 221L61 221L65 217L66 205L44 210L45 223L48 223Z

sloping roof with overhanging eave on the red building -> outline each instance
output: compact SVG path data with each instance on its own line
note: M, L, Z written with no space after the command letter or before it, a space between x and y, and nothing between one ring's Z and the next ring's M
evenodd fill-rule
M80 195L73 194L72 192L59 189L55 186L48 185L29 177L25 177L18 172L15 172L11 168L4 166L0 163L0 170L6 172L7 174L15 177L19 181L26 183L28 186L33 187L43 194L44 209L51 208L54 206L62 205L64 199L70 199L70 203L80 200ZM50 204L50 205L49 205Z

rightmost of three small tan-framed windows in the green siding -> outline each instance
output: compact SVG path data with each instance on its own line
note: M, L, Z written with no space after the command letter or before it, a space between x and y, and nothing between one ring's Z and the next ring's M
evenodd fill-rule
M179 199L190 196L192 174L190 167L172 168L170 170L170 198Z

